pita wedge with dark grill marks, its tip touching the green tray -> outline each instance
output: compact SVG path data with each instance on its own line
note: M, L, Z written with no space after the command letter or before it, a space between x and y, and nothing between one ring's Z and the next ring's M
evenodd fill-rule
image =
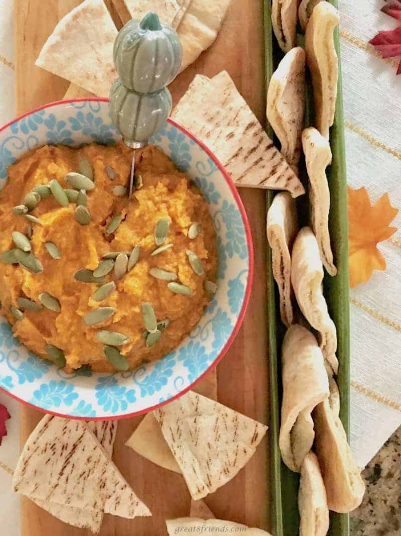
M237 186L305 192L226 71L197 75L172 117L209 146Z

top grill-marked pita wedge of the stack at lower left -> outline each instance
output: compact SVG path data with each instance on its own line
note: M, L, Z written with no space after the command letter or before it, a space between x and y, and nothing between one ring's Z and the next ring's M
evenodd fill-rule
M82 510L133 519L150 516L83 421L45 415L29 436L13 491Z

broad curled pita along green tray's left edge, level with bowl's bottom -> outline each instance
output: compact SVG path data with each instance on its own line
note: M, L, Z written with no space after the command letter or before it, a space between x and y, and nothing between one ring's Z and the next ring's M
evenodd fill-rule
M281 349L283 402L279 446L284 464L299 472L314 440L312 410L329 396L325 362L305 327L289 327Z

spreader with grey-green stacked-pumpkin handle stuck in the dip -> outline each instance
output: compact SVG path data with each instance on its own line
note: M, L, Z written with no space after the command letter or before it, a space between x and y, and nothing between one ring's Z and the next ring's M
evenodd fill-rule
M172 99L167 89L178 74L182 48L178 35L156 13L130 20L114 42L119 78L110 92L110 115L124 143L134 149L129 196L134 183L135 149L146 145L167 120Z

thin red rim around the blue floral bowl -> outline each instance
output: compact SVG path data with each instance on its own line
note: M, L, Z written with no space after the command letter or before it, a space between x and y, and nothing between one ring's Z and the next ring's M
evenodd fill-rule
M32 115L32 114L36 113L37 111L44 110L44 109L47 109L47 108L51 108L51 107L54 107L54 106L63 105L63 104L64 105L70 104L72 102L87 102L87 101L91 101L91 102L109 102L109 99L105 98L105 97L83 97L83 98L77 98L77 99L65 99L65 100L49 102L49 103L47 103L47 104L45 104L43 106L39 106L37 108L29 110L25 114L22 114L22 115L16 117L15 119L13 119L12 121L9 121L8 123L6 123L5 125L3 125L0 128L0 132L5 130L6 128L8 128L13 123L16 123L17 121L20 121L24 117L27 117L28 115ZM173 400L176 400L176 399L182 397L183 394L187 393L191 389L194 389L195 385L197 385L199 382L201 382L202 379L205 376L207 376L207 374L209 374L210 371L214 367L217 366L217 364L226 355L229 347L233 344L233 341L234 341L235 337L237 336L237 333L240 330L241 324L243 322L245 312L246 312L246 308L248 307L248 303L249 303L249 299L250 299L250 295L251 295L251 289L252 289L252 281L253 281L253 264L254 264L254 260L253 260L253 243L252 243L251 227L250 227L250 224L249 224L248 216L246 215L245 208L244 208L244 205L242 203L242 199L241 199L240 194L238 193L238 191L237 191L237 189L236 189L236 187L234 185L234 182L233 182L232 178L228 175L228 173L226 172L226 170L223 167L223 165L220 162L220 160L218 160L218 158L215 157L215 155L209 149L209 147L207 147L199 138L197 138L194 134L192 134L192 132L187 130L184 126L182 126L179 123L177 123L176 121L174 121L171 117L169 117L167 119L167 122L172 124L172 125L174 125L179 130L181 130L181 132L186 134L189 138L193 139L194 142L196 142L197 145L201 146L203 151L207 155L209 155L211 160L214 162L215 166L219 168L222 176L225 178L225 181L228 184L228 186L229 186L229 188L230 188L230 190L231 190L231 192L233 194L233 197L234 197L235 202L237 204L237 208L241 213L241 219L242 219L242 222L243 222L244 227L245 227L246 245L248 247L248 258L249 258L248 280L246 281L245 296L244 296L244 300L243 300L243 303L242 303L241 311L238 314L237 322L236 322L236 324L234 326L234 329L233 329L230 337L228 338L226 344L221 349L221 351L220 351L219 355L217 356L217 358L215 358L213 363L204 371L204 373L201 376L199 376L199 378L197 378L194 382L192 382L186 389L183 389L179 393L175 394L173 397L168 398L167 400L164 400L163 402L160 402L159 404L156 404L155 406L148 407L145 410L140 410L140 411L133 412L133 413L126 413L126 414L123 414L123 415L115 415L115 416L113 415L113 416L106 416L106 417L92 417L92 418L90 418L90 417L82 417L82 416L78 416L78 415L68 415L68 414L65 414L65 413L57 413L57 412L54 412L54 411L46 411L46 410L44 410L44 408L35 406L34 404L30 404L26 400L22 400L21 398L17 397L15 394L13 394L13 393L7 391L6 389L0 387L0 391L6 393L11 398L14 398L15 400L18 400L18 402L20 402L21 404L24 404L25 406L28 406L28 407L32 407L34 410L40 411L41 413L45 413L45 414L48 413L50 415L55 415L57 417L62 417L62 418L65 418L65 419L76 419L76 420L85 420L85 421L117 421L117 420L120 420L120 419L129 419L130 417L143 415L145 413L149 413L151 411L157 410L161 406L164 406L165 404L168 404L168 403L172 402Z

